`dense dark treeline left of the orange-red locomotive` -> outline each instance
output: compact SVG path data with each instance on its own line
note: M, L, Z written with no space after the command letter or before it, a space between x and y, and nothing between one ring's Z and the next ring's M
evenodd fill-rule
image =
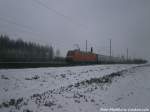
M42 46L22 39L0 35L0 62L45 62L54 57L52 46Z

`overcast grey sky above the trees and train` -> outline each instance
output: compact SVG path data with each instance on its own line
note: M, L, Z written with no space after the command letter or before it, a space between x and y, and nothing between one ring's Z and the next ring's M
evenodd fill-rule
M150 0L0 0L0 33L60 49L150 60ZM44 5L43 5L44 4Z

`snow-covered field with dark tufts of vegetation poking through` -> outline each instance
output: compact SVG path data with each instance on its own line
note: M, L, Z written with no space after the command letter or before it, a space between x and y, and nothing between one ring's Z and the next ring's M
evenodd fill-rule
M1 69L0 112L150 109L150 66Z

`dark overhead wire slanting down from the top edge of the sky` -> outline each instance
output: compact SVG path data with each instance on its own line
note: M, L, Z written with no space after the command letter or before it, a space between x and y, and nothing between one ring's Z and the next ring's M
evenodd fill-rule
M41 2L40 0L32 0L32 1L33 1L33 2L36 2L37 4L41 5L42 7L44 7L44 8L46 8L46 9L50 10L51 12L54 12L56 15L59 15L59 16L65 18L66 20L68 20L68 21L70 21L70 22L72 22L72 23L74 23L74 24L78 24L79 26L81 26L81 27L83 27L83 28L87 28L87 26L85 26L84 24L77 23L77 22L75 23L75 21L74 21L71 17L66 16L66 15L60 13L59 11L57 11L57 10L55 10L55 9L53 9L53 8L51 8L51 7L49 7L49 6L47 6L46 4L44 4L43 2Z

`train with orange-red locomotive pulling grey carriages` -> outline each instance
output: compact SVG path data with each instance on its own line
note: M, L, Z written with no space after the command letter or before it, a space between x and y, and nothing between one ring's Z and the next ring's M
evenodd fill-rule
M80 50L70 50L67 53L66 61L72 64L111 64L122 63L123 59L119 57L107 56Z

